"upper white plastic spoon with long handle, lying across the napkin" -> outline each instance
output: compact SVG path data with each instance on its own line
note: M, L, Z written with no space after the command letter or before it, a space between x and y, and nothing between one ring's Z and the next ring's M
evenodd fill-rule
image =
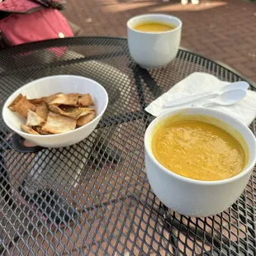
M198 100L204 100L208 98L215 98L218 97L220 94L223 92L228 92L230 90L235 90L235 89L241 89L241 90L247 90L249 88L249 83L240 81L240 82L235 82L235 83L230 83L225 85L225 87L221 88L217 92L205 92L205 93L200 93L197 95L189 96L189 97L183 97L178 100L172 101L172 102L167 102L164 104L164 107L178 107L187 103L192 103L196 102Z

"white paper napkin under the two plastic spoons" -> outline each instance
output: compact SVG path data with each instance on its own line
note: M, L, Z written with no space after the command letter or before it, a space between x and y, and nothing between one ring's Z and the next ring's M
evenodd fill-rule
M148 111L153 116L159 116L162 111L171 109L164 107L164 104L167 102L202 92L216 92L226 84L228 82L220 81L209 73L192 73L174 85L168 92L158 97L154 102L151 102L145 108L145 111ZM184 107L190 107L191 105L192 103ZM243 122L244 125L249 126L256 116L256 92L248 90L246 97L235 105L227 107L213 106L211 108L223 111Z

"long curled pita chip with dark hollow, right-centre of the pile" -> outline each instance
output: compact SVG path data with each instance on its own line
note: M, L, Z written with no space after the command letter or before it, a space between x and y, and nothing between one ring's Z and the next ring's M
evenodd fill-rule
M85 116L94 111L93 108L90 107L69 107L69 106L49 106L50 111L55 112L56 114L69 116L73 119L78 119L80 116Z

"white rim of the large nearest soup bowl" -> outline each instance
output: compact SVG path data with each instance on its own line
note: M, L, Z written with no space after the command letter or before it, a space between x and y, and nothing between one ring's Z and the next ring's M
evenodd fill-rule
M192 108L195 110L201 110L201 107L192 107ZM167 173L169 176L171 176L173 178L178 178L179 180L181 180L183 182L187 182L187 183L192 183L192 184L197 184L197 185L220 185L220 184L235 182L239 178L243 178L246 174L248 174L254 168L254 165L256 163L256 154L254 155L251 163L247 164L247 166L245 166L244 169L241 172L239 172L238 174L236 174L235 176L230 177L230 178L225 178L222 180L216 180L216 181L202 181L202 180L183 177L177 173L173 173L172 171L168 170L168 168L165 168L162 164L160 164L159 161L154 158L154 154L152 154L149 150L149 146L150 146L149 145L149 129L152 126L155 126L158 123L159 119L172 116L171 114L173 112L186 111L188 109L189 109L189 107L183 107L183 108L178 108L178 109L176 108L176 109L173 109L170 111L166 111L163 115L156 117L154 119L154 121L152 121L149 124L149 126L147 127L147 129L145 131L145 137L144 137L145 153L147 153L149 155L149 158L154 162L154 164L156 164L161 169L161 171L164 171L164 173ZM235 121L237 124L239 124L239 126L241 126L242 129L244 129L245 132L247 132L248 135L252 137L252 141L253 141L254 149L255 149L254 151L256 151L256 139L255 139L253 132L251 130L249 130L248 126L245 126L241 121L235 119L233 116L230 116L222 111L217 111L217 110L213 110L213 109L209 109L209 108L204 108L204 110L209 112L209 116L211 116L211 112L217 112L217 113L220 113L221 115L224 115L226 118L229 118L232 121ZM196 115L197 114L195 114L195 116ZM206 114L206 116L207 116L207 114ZM225 123L225 120L220 119L220 121L223 121ZM228 126L230 126L230 125L228 125ZM245 143L248 144L247 140L245 140Z

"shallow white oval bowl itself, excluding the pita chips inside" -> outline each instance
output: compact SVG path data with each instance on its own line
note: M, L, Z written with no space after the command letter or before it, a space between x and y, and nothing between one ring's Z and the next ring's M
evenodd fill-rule
M97 111L96 118L85 126L78 129L65 132L58 135L31 135L21 131L21 124L26 124L26 119L20 116L17 112L10 111L8 106L19 93L26 95L29 98L45 97L51 94L63 93L90 93ZM56 75L46 78L40 78L13 92L7 98L3 109L3 121L9 128L21 135L26 140L31 141L35 145L40 145L47 148L59 148L69 145L74 145L85 139L92 133L101 120L104 111L107 108L108 96L106 90L99 83L89 78L83 78L75 75Z

